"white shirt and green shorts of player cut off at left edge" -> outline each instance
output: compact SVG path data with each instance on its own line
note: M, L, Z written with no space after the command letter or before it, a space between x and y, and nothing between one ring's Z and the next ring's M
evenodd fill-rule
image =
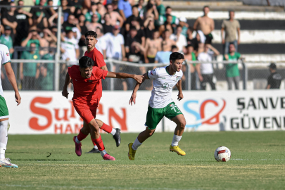
M4 44L0 44L0 56L1 56L1 64L0 64L0 70L1 70L2 65L11 62L8 47L5 46ZM6 101L4 99L2 82L0 80L0 119L3 118L9 118L9 113Z

